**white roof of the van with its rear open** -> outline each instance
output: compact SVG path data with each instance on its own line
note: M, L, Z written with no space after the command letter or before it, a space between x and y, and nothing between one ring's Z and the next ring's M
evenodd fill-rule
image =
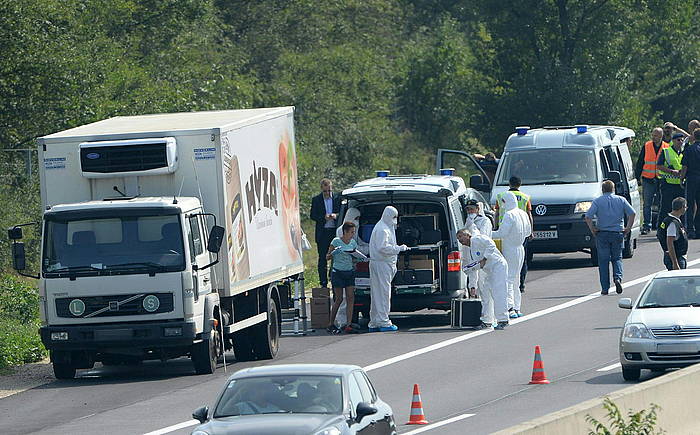
M467 192L467 186L461 177L449 175L391 175L375 177L355 183L343 190L343 195L393 190L402 192L438 193L443 189L461 195Z

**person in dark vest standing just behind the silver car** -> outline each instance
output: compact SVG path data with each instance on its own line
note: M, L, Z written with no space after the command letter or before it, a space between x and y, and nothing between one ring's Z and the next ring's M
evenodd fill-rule
M688 202L683 197L673 200L673 211L659 224L656 237L664 250L664 266L668 270L685 269L688 265L685 254L688 253L688 237L681 216L688 208Z

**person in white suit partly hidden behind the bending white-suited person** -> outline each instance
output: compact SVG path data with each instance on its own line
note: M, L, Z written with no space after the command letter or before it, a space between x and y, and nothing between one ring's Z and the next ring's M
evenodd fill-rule
M484 216L481 204L475 199L470 199L467 200L465 208L467 211L466 227L468 228L470 225L473 225L479 231L479 234L490 238L493 225L491 224L491 219ZM466 261L470 263L473 262L470 248L465 246L464 249L462 249L462 258L467 259ZM486 288L488 282L486 279L486 272L472 268L472 271L467 274L467 281L469 283L470 296L476 294L476 296L481 299L482 325L493 324L493 298L491 297L491 291Z

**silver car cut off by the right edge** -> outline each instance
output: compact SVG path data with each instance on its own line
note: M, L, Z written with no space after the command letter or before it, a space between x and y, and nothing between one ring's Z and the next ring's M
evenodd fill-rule
M700 362L700 270L656 274L632 304L620 335L620 363L626 381L639 380L641 369L663 371Z

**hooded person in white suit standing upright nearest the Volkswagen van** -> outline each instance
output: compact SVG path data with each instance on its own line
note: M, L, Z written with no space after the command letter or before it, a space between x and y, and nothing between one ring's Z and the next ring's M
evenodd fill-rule
M505 210L503 222L498 230L491 233L494 239L501 239L503 256L508 262L508 311L510 318L522 316L520 313L520 269L525 261L523 242L532 234L530 217L518 208L518 200L512 192L505 192L499 208Z

